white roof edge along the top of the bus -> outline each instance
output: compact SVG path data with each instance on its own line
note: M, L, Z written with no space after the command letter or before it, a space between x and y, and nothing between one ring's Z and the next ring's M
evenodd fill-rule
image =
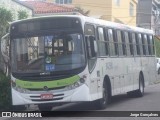
M45 19L45 18L54 18L54 17L74 17L74 18L80 18L84 23L92 23L92 24L98 24L101 26L107 26L109 28L116 28L119 30L126 30L126 31L134 31L134 32L140 32L140 33L148 33L148 34L153 34L153 30L150 29L144 29L140 27L134 27L134 26L129 26L121 23L115 23L111 21L106 21L106 20L101 20L101 19L96 19L92 17L86 17L82 15L52 15L52 16L41 16L41 17L34 17L34 18L29 18L29 19L23 19L23 20L18 20L14 21L11 23L19 23L19 22L24 22L24 21L30 21L30 20L37 20L37 19Z

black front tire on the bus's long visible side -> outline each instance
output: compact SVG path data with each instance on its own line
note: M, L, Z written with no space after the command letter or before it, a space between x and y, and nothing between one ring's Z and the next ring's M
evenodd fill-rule
M95 101L97 109L105 109L109 103L109 87L106 82L103 83L103 95L101 99Z

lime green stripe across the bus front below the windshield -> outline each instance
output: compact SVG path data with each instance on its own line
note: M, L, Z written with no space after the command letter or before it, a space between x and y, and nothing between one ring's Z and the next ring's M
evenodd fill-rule
M57 88L57 87L71 85L76 81L78 81L79 79L80 77L78 75L70 78L53 80L53 81L43 81L43 82L23 81L23 80L17 79L16 85L22 88L31 88L31 89L44 88L44 86L47 86L48 88Z

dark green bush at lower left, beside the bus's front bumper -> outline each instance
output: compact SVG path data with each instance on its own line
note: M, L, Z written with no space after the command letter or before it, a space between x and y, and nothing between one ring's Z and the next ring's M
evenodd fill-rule
M0 111L11 109L10 79L0 72Z

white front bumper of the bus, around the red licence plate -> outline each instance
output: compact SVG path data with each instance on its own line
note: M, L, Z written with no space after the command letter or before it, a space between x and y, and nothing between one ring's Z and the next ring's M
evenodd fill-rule
M34 91L35 92L35 91ZM53 99L41 99L42 94L53 94ZM44 93L37 92L36 94L20 93L12 88L12 104L27 105L27 104L43 104L43 103L65 103L65 102L82 102L91 101L89 88L87 85L82 85L73 90L65 90L61 92L47 91Z

